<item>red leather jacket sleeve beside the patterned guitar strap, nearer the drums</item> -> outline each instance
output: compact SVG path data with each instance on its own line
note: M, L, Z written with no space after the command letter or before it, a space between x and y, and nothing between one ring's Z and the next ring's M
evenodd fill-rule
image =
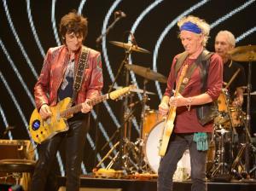
M86 99L92 99L101 95L103 87L102 59L101 54L97 53L92 61L92 72L90 76L90 84L87 89Z

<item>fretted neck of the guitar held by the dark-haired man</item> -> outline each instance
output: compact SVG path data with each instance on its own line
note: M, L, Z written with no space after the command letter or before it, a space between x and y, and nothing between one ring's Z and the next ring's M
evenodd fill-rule
M100 103L105 100L108 100L108 94L96 97L96 98L88 101L87 103L90 106L95 106L97 103ZM82 109L82 104L83 103L79 103L78 105L70 107L70 108L66 109L65 111L61 112L61 117L63 118L63 117L73 115L74 113L79 113Z

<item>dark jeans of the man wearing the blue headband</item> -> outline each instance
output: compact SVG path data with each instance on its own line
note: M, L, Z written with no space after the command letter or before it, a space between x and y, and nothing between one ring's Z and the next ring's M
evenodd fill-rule
M189 149L191 164L192 191L205 191L207 151L198 151L193 142L194 133L173 134L170 138L166 155L160 161L158 170L158 191L172 191L172 177L177 169L177 162ZM209 140L209 138L208 138Z

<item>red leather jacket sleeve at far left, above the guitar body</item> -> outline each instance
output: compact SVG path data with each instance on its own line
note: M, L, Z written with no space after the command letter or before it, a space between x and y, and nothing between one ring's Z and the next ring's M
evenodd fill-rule
M38 82L35 84L34 87L34 96L35 96L35 103L38 111L43 104L49 105L49 75L50 75L50 49L48 50L45 58L44 64L38 78Z

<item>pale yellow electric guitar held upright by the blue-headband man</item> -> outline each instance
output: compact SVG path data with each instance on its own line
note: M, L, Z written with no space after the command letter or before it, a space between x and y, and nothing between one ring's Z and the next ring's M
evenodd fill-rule
M188 70L188 65L185 65L182 69L180 77L178 78L174 96L177 96L179 94L180 87L181 87L181 84L183 83L183 79L184 79L184 76L186 75L187 70ZM169 111L166 116L166 120L164 122L164 129L160 139L160 148L159 148L159 155L161 157L165 156L168 143L172 135L172 130L174 128L174 120L176 117L176 108L177 107L175 106L171 106L169 108Z

